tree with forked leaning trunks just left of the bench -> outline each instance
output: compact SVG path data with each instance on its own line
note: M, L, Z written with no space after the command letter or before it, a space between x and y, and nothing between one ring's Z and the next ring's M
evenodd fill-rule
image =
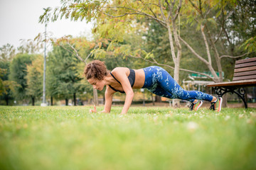
M239 16L238 21L240 21L240 18L244 14L240 8L240 1L208 2L188 0L186 3L187 8L183 10L183 16L188 19L188 23L191 26L196 26L197 28L193 31L192 35L201 33L201 42L203 42L202 45L204 46L203 49L205 52L199 54L193 43L189 43L186 38L181 38L181 36L179 39L198 60L208 67L210 73L213 75L213 81L224 81L222 74L223 68L229 67L230 69L230 66L233 68L230 62L234 63L235 59L249 54L238 49L240 46L239 43L244 41L246 37L243 32L248 32L249 34L255 33L255 28L253 28L254 26L252 24L248 26L249 29L238 31L242 27L238 28L235 26L236 21L233 18L235 11ZM250 14L249 18L254 18L252 19L254 21L255 15ZM228 62L229 64L227 64ZM216 74L217 72L219 77ZM224 98L223 106L226 106L226 98Z

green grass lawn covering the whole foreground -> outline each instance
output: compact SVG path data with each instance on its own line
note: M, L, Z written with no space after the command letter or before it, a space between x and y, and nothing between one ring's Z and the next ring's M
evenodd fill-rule
M255 108L90 108L1 106L0 169L256 169Z

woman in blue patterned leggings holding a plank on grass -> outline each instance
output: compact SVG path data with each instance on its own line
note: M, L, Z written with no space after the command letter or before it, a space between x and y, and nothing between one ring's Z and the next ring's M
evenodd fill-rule
M121 114L127 113L134 97L132 89L148 89L158 96L191 101L191 111L197 111L202 106L203 101L199 100L210 101L211 110L218 112L221 110L222 98L216 98L201 91L185 91L161 67L151 66L144 69L117 67L110 72L106 69L104 62L95 60L87 64L84 74L94 89L102 91L104 86L107 86L103 113L110 113L113 94L117 91L126 94ZM92 112L96 112L96 109Z

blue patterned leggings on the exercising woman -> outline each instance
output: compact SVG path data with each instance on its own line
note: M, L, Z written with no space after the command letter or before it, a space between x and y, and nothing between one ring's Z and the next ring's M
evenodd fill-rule
M193 102L195 99L212 101L213 96L201 91L186 91L166 72L157 66L144 68L145 83L143 89L148 89L153 94L166 98L178 98Z

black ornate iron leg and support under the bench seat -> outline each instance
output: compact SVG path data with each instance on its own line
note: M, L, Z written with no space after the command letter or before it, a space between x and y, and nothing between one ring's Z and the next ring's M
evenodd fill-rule
M243 103L245 104L245 108L247 108L247 103L245 101L245 89L244 88L236 88L236 89L233 89L233 88L225 88L225 87L214 87L215 89L215 93L219 96L219 97L222 97L224 94L230 92L232 94L237 94L240 98L242 98L242 101Z

